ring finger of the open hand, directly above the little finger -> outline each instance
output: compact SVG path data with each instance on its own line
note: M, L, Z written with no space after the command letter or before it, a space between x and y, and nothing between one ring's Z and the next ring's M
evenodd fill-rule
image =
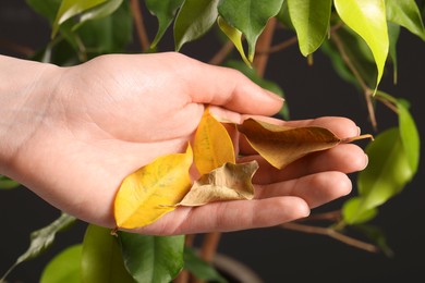
M255 198L295 196L304 199L309 208L315 208L350 194L351 188L351 181L345 174L330 171L257 186Z

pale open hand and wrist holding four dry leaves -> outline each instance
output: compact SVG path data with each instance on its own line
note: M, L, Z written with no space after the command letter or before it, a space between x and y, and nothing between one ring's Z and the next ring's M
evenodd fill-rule
M219 119L256 116L291 126L317 125L340 138L357 136L345 118L270 119L283 100L241 73L179 53L104 56L59 67L0 56L0 174L76 218L113 229L122 180L155 158L182 152L206 104ZM242 140L242 137L241 137ZM347 174L367 157L339 145L278 171L257 159L255 199L179 207L133 232L155 235L236 231L307 217L351 192Z

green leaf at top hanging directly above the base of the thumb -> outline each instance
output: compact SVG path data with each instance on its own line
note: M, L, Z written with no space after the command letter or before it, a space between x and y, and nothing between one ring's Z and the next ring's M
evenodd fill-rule
M203 36L216 22L219 0L185 0L174 23L175 50Z

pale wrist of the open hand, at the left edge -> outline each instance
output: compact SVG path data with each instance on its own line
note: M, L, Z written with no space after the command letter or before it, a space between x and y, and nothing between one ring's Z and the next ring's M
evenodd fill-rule
M0 56L0 174L13 177L15 159L42 123L58 69Z

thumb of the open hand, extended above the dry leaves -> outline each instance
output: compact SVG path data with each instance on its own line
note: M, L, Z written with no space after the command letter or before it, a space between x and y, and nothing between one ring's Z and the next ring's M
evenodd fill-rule
M179 74L182 81L187 82L187 94L193 102L259 115L272 115L282 107L282 98L259 87L236 70L209 65L187 57L180 59L184 62Z

